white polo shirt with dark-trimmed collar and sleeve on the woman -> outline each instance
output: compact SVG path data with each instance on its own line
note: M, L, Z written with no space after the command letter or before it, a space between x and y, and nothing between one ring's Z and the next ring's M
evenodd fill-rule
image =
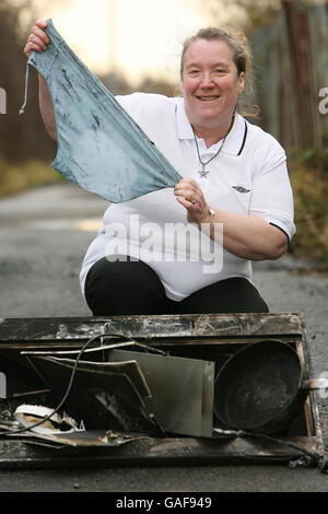
M285 152L272 136L237 114L222 150L206 166L209 174L200 177L184 98L133 93L117 96L117 101L180 176L191 177L199 184L211 207L260 217L292 238L293 197ZM208 162L221 144L219 141L207 149L204 141L198 139L202 162ZM90 268L101 258L117 254L145 261L160 277L166 295L175 301L219 280L232 277L251 280L250 261L212 242L187 222L186 214L173 188L109 206L103 227L82 264L83 294Z

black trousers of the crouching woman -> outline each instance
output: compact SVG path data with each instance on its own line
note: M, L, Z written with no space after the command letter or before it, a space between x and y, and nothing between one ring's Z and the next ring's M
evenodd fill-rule
M215 282L175 302L150 266L130 258L109 261L104 257L95 262L86 276L85 300L94 316L269 312L257 289L243 277Z

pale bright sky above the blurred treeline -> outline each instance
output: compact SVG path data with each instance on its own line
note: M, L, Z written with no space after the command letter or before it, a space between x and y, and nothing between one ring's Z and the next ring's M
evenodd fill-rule
M138 83L144 75L176 82L183 42L209 24L197 0L34 0L95 73L117 70ZM210 7L210 0L201 2Z

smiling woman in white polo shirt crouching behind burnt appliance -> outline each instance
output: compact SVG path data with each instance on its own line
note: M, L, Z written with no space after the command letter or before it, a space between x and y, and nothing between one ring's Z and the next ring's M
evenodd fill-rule
M46 49L45 27L33 27L26 56ZM238 114L248 75L242 45L206 28L184 45L183 97L117 96L184 178L174 191L106 210L80 274L94 315L268 312L250 261L286 250L293 199L283 149ZM43 119L56 139L42 77L39 84Z

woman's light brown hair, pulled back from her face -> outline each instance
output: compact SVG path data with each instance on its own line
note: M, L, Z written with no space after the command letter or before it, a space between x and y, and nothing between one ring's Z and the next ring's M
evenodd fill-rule
M232 48L234 52L234 63L236 65L237 75L242 72L245 73L245 87L241 93L236 109L243 116L253 116L256 117L258 114L258 107L251 105L250 98L253 96L253 74L251 74L251 54L249 49L248 42L244 34L232 34L223 28L218 27L207 27L201 28L191 37L188 37L184 45L180 58L180 77L183 78L184 65L185 65L185 55L189 46L197 39L206 39L208 42L212 40L224 40Z

